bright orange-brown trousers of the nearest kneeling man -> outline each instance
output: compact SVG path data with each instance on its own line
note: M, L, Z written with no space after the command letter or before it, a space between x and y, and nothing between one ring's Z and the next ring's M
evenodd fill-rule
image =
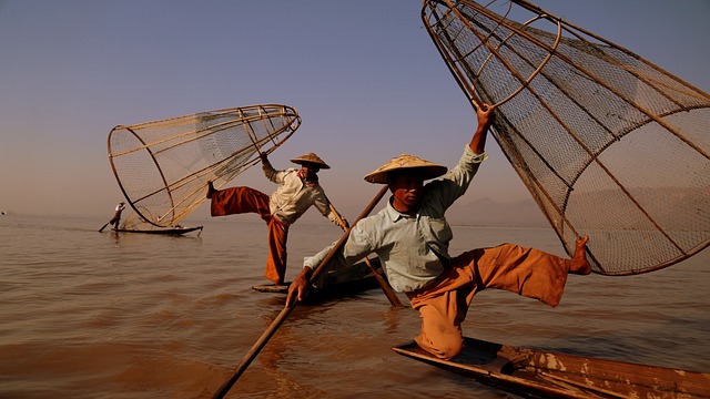
M464 349L462 323L476 293L505 289L557 306L568 268L568 259L513 244L463 253L429 286L407 293L422 318L415 340L434 356L450 359Z

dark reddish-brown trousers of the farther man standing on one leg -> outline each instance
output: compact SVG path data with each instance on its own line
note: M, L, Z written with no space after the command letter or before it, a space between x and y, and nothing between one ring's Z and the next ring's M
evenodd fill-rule
M283 284L286 276L288 226L272 216L268 195L251 187L231 187L212 194L212 216L256 213L268 227L268 257L264 277Z

